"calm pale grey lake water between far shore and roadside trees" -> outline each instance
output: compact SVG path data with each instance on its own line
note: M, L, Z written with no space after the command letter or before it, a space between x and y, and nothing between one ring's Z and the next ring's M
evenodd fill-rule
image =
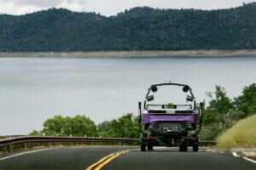
M0 59L0 135L30 133L55 115L137 115L153 83L188 83L201 101L217 84L233 98L255 80L255 57Z

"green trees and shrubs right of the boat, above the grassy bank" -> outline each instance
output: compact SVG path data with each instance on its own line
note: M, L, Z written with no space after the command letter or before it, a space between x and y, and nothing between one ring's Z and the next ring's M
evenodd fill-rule
M236 122L256 114L255 83L243 88L241 95L235 99L230 99L225 89L220 86L216 86L214 93L207 95L211 100L204 111L201 140L215 140Z

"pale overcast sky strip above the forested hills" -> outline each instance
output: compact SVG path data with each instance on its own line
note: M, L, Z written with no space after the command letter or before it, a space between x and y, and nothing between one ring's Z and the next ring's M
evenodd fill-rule
M68 8L73 11L118 14L137 6L153 8L231 8L255 0L0 0L0 13L27 14L46 8Z

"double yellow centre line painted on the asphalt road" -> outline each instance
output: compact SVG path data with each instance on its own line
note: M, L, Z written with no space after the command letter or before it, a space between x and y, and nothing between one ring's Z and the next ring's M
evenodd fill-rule
M113 154L110 154L108 156L105 156L100 161L96 161L94 164L90 165L90 167L87 167L85 170L91 170L93 168L95 170L100 170L100 169L102 169L102 167L104 167L106 164L108 164L109 161L112 161L117 156L125 154L129 151L131 151L131 150L121 150L121 151L115 152Z

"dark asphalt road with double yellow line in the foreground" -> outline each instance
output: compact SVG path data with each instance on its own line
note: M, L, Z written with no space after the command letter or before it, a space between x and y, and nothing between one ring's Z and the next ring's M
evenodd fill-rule
M103 159L102 159L103 158ZM90 146L32 150L0 157L0 170L85 170L85 169L177 169L255 170L256 164L233 156L200 150L179 152L157 148L141 152L130 146Z

